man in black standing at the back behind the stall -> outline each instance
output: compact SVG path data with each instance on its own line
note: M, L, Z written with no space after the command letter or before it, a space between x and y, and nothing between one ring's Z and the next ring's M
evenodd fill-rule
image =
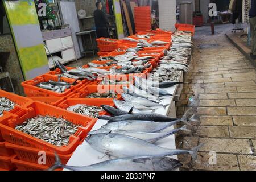
M106 26L109 25L109 19L106 14L102 11L101 2L96 2L97 10L94 11L94 21L96 26L96 34L98 38L104 37L109 38L109 33Z

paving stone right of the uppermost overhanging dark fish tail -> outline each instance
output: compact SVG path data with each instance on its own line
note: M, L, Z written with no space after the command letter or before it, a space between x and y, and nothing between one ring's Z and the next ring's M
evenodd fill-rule
M201 125L233 126L232 117L229 115L201 115Z

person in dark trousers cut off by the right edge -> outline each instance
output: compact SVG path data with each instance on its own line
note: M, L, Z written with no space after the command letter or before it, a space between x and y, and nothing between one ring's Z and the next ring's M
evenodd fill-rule
M253 40L253 46L251 48L252 59L256 59L256 0L251 0L250 9L250 28L251 28L251 39Z

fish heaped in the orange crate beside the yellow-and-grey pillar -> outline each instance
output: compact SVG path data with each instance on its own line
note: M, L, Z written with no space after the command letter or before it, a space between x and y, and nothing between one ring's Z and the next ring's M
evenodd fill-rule
M69 89L72 85L76 85L76 82L77 81L73 82L73 84L70 84L63 80L61 81L61 79L59 77L58 81L49 80L47 82L40 82L36 86L38 86L39 88L51 90L51 91L54 91L57 93L63 93L63 92L65 92L66 89Z

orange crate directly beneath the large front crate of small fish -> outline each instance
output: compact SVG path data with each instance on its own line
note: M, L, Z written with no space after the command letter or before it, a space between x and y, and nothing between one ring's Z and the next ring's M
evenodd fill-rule
M24 147L24 146L19 146L17 144L11 144L9 142L6 142L6 147L9 148L10 150L13 150L16 157L16 160L20 160L21 163L31 163L31 164L37 164L40 167L51 167L55 163L55 154L54 152L50 151L42 151L38 148L31 148L31 147ZM39 154L46 154L46 160L45 164L38 164L38 159L40 158ZM71 154L67 155L59 155L59 158L61 160L61 163L67 164L68 160L71 158L73 152ZM17 166L18 167L18 166ZM19 169L19 167L18 167Z

